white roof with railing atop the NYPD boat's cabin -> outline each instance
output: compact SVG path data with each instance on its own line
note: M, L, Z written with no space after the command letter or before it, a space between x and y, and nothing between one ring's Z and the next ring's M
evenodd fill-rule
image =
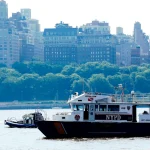
M82 94L78 94L78 92L75 92L71 98L68 100L68 103L111 103L111 104L132 104L132 105L146 105L150 106L150 98L141 96L141 98L138 97L132 97L129 94L126 94L123 96L123 99L121 99L121 96L118 96L119 98L116 99L115 95L111 94L101 94L98 92L84 92Z

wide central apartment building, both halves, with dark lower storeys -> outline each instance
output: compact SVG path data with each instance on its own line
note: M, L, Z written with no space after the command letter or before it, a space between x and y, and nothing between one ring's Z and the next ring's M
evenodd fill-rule
M44 30L44 58L51 64L108 61L116 63L116 37L95 31L87 32L68 24Z

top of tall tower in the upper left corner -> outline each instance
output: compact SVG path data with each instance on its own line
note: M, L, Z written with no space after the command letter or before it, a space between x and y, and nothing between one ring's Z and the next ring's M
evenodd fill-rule
M6 1L0 0L0 20L8 19L8 6Z

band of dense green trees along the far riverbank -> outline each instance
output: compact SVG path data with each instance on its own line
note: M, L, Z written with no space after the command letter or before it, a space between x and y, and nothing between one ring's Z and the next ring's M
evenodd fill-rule
M125 93L150 92L150 65L118 67L108 62L51 65L16 62L0 64L0 101L67 100L74 92L115 93L122 84Z

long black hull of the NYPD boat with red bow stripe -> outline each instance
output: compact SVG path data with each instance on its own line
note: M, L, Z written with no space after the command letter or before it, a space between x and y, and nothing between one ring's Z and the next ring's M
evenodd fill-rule
M139 122L38 121L37 126L47 138L150 136L150 123Z

